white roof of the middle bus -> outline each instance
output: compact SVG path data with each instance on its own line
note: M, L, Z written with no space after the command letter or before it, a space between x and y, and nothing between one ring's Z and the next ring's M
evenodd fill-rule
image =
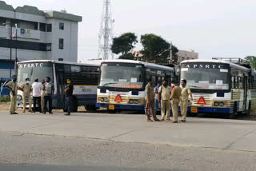
M161 66L154 63L148 63L148 62L140 62L140 61L134 61L134 60L126 60L126 59L114 59L114 60L105 60L102 62L110 62L110 63L133 63L133 64L142 64L148 68L153 68L157 70L170 70L174 72L174 68L169 66Z

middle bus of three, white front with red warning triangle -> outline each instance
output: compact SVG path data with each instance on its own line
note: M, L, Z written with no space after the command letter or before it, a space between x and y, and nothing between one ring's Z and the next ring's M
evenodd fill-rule
M97 90L97 107L108 109L144 110L147 80L167 80L175 77L174 67L132 60L111 60L102 62Z

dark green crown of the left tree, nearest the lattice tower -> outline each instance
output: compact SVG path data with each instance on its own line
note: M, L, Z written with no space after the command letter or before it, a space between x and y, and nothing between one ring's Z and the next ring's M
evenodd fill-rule
M137 36L134 33L122 34L120 37L113 39L111 50L114 54L128 54L130 50L134 49L137 42Z

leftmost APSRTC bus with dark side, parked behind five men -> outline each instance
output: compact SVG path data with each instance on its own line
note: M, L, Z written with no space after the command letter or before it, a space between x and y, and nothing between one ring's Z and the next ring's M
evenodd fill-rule
M31 84L36 78L50 77L54 83L53 109L66 109L64 88L66 79L71 78L74 84L74 95L71 110L78 110L78 106L84 105L87 110L96 109L97 85L100 62L90 61L86 63L61 62L53 60L33 60L18 62L18 85L25 83L30 78ZM22 107L22 91L18 90L18 107ZM25 101L28 103L28 101Z

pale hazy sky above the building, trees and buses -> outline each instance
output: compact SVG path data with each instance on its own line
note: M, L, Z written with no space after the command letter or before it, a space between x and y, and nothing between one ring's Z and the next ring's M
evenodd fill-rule
M78 28L78 61L98 56L103 0L6 0L39 10L66 10L82 16ZM179 50L199 58L256 56L255 0L111 0L114 37L126 32L157 34ZM136 50L141 50L138 44Z

